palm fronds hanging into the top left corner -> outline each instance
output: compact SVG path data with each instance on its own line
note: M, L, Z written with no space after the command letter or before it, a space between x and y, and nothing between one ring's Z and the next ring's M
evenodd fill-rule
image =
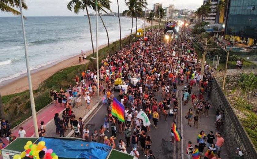
M22 8L27 10L28 6L24 2L24 0L21 1ZM13 9L14 7L19 8L20 7L20 1L19 0L0 0L0 10L2 12L11 13L15 16L19 16L20 12Z

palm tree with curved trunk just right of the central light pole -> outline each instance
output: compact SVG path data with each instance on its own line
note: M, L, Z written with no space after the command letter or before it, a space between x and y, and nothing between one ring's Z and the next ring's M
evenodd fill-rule
M111 1L109 1L109 0L98 0L98 15L99 15L99 17L100 17L100 19L101 19L101 21L102 21L102 24L103 24L103 27L105 28L105 31L106 31L106 34L107 34L107 39L108 39L108 50L109 50L109 56L110 56L110 41L109 41L109 34L108 34L108 31L107 31L107 28L106 28L106 26L105 26L105 24L104 24L104 22L103 22L103 20L102 20L102 16L101 16L101 14L100 14L100 12L99 11L103 11L103 12L105 12L105 13L107 13L106 12L106 10L104 10L104 8L106 8L106 9L108 9L108 10L110 10L111 11L111 9L110 9L110 3L111 3ZM95 10L95 5L93 5L93 6L91 6L94 10Z

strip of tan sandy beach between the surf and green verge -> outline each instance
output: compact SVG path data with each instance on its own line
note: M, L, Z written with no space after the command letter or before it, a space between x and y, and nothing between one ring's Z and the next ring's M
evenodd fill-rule
M158 22L153 21L153 25L158 25ZM148 26L151 26L151 24L149 24L149 22L147 24L147 21L146 21L146 27L148 27ZM129 35L126 35L126 36L129 36ZM108 44L100 46L99 50L105 46L108 46ZM95 49L95 51L96 51L96 49ZM93 51L90 50L83 54L86 54L88 56L88 55L92 54L92 52ZM55 72L58 72L59 70L70 67L70 66L85 64L89 61L89 60L85 60L85 61L82 60L82 62L79 64L79 56L81 56L81 54L78 54L71 58L65 59L63 61L59 61L58 63L55 63L55 64L47 65L45 67L42 67L42 68L39 68L36 70L32 70L31 71L31 79L32 79L33 90L37 89L39 87L40 83L42 83L44 80L46 80L47 78L52 76ZM1 91L2 96L8 95L8 94L19 93L22 91L26 91L28 89L29 89L29 87L28 87L27 74L23 74L19 77L16 77L16 78L13 78L10 80L6 80L6 81L3 81L2 83L0 83L0 91Z

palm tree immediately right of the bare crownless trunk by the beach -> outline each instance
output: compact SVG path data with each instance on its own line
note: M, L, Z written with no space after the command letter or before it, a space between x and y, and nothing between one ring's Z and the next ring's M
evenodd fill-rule
M125 0L125 4L126 4L126 6L128 6L128 10L124 10L122 12L123 15L131 16L131 18L132 18L132 25L131 25L131 31L130 31L130 36L129 36L129 43L130 43L131 36L132 36L133 17L136 17L136 11L135 11L136 2L137 2L137 0Z

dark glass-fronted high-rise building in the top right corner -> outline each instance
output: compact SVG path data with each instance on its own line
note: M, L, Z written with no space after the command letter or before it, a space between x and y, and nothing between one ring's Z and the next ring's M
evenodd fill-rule
M226 17L226 39L245 40L248 45L257 42L256 0L230 0Z

